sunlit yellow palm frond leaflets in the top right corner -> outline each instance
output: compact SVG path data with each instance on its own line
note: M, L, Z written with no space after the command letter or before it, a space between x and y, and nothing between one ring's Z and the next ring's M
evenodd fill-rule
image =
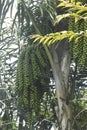
M87 5L82 5L80 2L77 3L69 3L68 1L60 1L60 4L57 7L66 8L68 13L58 15L55 20L55 24L59 23L63 18L74 17L75 22L79 20L87 20Z

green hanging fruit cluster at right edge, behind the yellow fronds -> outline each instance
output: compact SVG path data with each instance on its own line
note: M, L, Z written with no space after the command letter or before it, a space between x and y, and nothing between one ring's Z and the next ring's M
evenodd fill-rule
M85 0L77 1L80 1L83 4L86 2ZM87 30L87 21L81 19L75 23L74 18L70 18L69 30L73 30L74 32L85 31ZM80 37L76 42L73 40L71 50L73 58L78 62L78 65L81 67L87 66L87 38L83 36Z

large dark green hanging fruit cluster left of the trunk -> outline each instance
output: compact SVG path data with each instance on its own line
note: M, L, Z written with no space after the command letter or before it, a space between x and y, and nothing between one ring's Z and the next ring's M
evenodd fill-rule
M22 50L17 66L17 104L26 109L28 118L39 117L40 102L49 91L50 64L42 47L27 46Z

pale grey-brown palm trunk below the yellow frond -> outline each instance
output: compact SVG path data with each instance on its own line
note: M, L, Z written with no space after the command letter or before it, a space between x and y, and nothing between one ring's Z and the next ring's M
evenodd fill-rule
M51 48L53 57L53 75L55 80L57 99L58 99L58 125L59 130L71 130L71 109L70 109L70 86L69 68L70 54L69 44L65 41Z

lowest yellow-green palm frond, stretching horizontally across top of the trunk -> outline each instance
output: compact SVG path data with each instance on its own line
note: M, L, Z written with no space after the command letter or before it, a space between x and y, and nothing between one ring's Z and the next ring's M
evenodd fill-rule
M56 33L50 33L45 36L41 36L38 34L30 36L31 39L34 39L34 43L39 42L43 45L52 45L66 38L68 38L69 42L73 39L75 39L75 42L77 42L80 37L87 37L87 32L80 31L79 33L75 33L73 31L61 31Z

